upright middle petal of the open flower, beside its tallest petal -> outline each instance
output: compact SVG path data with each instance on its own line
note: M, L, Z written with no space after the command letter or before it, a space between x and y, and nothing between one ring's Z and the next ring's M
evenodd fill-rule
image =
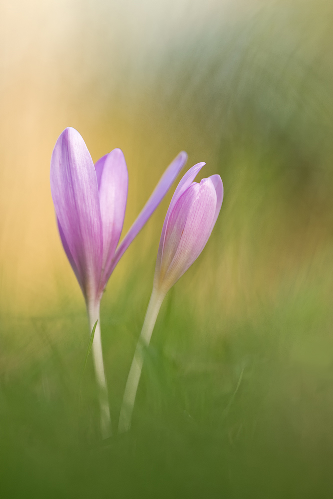
M104 158L102 158L104 159ZM124 155L113 149L99 165L95 165L99 181L99 203L103 231L103 268L101 289L111 275L111 260L119 243L124 224L128 190L128 173ZM97 173L98 172L98 173Z

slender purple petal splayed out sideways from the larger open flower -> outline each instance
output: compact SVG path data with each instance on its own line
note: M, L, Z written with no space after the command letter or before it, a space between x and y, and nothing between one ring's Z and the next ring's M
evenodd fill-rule
M160 202L162 201L162 199L164 198L164 196L172 186L180 170L185 165L186 161L187 161L187 154L184 151L182 151L168 166L168 168L162 175L159 183L155 187L152 195L150 196L147 203L145 204L140 214L138 215L137 219L135 220L134 224L132 225L132 227L130 228L130 230L128 231L128 233L120 243L119 248L116 250L116 253L112 260L112 264L109 269L110 274L112 273L114 267L116 266L116 264L118 263L124 252L127 250L133 239L138 235L138 233L141 231L142 227L145 225L147 220L156 210L156 208L158 207L158 205L160 204Z

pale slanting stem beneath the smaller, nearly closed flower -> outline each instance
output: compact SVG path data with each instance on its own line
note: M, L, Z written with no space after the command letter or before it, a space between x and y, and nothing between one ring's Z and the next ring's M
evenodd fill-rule
M124 397L121 405L118 433L127 432L131 427L131 419L134 408L136 392L138 389L142 364L144 359L144 350L148 347L150 338L155 326L158 312L164 300L165 293L153 288L149 300L146 316L142 326L139 341L136 345L131 368L129 370Z

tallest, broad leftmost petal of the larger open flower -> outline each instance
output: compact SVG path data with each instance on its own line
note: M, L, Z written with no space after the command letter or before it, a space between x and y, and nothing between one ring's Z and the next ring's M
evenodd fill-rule
M50 182L55 213L84 296L96 299L103 244L97 178L89 151L74 128L66 128L54 146Z

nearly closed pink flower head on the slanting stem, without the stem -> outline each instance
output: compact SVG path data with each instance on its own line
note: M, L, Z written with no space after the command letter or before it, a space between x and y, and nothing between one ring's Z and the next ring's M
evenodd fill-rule
M223 201L220 175L193 182L205 163L181 179L165 217L157 253L154 287L166 293L198 258L211 235Z

